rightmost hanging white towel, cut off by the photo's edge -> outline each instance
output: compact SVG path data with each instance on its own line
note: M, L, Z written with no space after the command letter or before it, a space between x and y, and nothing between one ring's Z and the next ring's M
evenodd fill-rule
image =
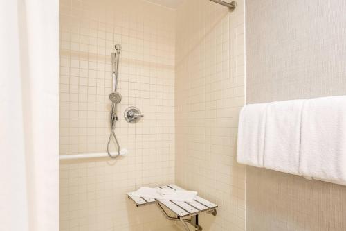
M302 175L346 182L346 96L304 103L301 139Z

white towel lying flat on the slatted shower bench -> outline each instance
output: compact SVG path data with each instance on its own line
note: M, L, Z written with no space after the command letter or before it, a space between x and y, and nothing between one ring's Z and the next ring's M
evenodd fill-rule
M176 191L174 189L140 187L140 189L132 193L132 196L153 198L158 200L175 200L191 202L197 196L197 191Z

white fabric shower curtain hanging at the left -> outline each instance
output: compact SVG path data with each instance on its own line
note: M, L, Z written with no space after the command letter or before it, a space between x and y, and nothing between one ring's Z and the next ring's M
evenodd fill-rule
M58 0L0 0L0 230L58 230Z

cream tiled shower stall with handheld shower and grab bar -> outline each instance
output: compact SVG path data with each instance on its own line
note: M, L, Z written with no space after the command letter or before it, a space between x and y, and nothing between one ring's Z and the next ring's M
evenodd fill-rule
M219 205L194 227L244 230L244 7L195 3L60 0L60 231L179 230L127 198L170 184Z

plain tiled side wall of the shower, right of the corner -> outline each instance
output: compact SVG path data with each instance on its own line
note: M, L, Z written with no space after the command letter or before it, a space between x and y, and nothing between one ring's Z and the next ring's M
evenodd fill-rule
M188 0L176 12L176 183L219 205L203 230L245 230L245 167L237 164L244 105L244 6Z

